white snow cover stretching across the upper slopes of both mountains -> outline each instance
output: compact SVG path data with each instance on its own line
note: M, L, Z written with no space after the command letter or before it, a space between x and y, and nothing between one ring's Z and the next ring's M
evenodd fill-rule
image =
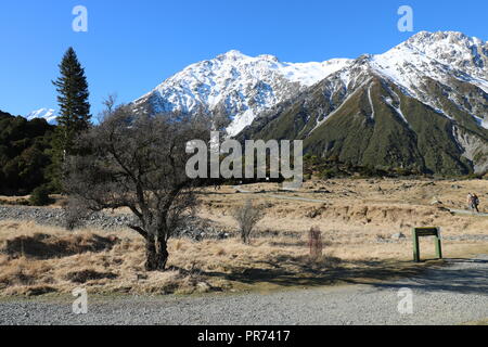
M442 93L488 129L488 43L454 31L421 31L384 54L323 63L283 63L273 55L254 57L230 51L188 66L133 105L150 105L154 113L213 112L231 120L228 132L235 136L321 80L330 80L329 95L344 93L346 100L371 74L452 119L452 105L438 98ZM331 115L322 115L317 123L322 124L325 116Z

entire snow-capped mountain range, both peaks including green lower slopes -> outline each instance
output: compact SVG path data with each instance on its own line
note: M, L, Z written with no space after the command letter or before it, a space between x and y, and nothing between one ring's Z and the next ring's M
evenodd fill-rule
M283 63L230 51L133 102L200 110L239 139L303 139L307 153L422 172L488 170L488 43L422 31L383 54Z

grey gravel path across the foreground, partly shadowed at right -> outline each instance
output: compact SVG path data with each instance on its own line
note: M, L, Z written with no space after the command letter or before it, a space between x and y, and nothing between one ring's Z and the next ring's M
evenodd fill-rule
M488 318L488 256L449 260L419 278L374 285L202 297L89 298L88 314L70 303L0 301L0 324L460 324ZM400 314L401 288L414 314Z

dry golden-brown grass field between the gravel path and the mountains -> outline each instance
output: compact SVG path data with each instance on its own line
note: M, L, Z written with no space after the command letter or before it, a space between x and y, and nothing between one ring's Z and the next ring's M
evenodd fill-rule
M0 295L68 293L78 286L112 294L191 294L268 291L295 286L368 283L421 271L411 261L411 228L434 226L442 235L488 235L488 218L453 215L465 209L467 192L488 202L488 181L331 180L308 182L298 192L274 184L224 187L202 195L200 215L235 232L232 210L253 198L266 210L251 245L235 234L222 241L170 242L170 269L143 270L144 245L129 230L68 233L27 221L0 221ZM278 197L282 198L278 198ZM311 198L323 202L291 201ZM487 204L488 205L488 204ZM308 256L307 232L322 230L323 257ZM402 232L407 239L391 240ZM434 257L432 240L422 256ZM487 241L444 241L448 258L488 253Z

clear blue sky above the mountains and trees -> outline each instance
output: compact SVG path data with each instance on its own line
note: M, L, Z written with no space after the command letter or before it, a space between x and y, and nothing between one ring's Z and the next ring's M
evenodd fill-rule
M74 33L85 5L88 33ZM412 33L397 10L414 10L414 31L459 30L488 39L486 0L2 0L0 110L57 108L51 80L73 46L86 68L92 113L108 93L132 101L187 65L236 49L285 62L381 53Z

